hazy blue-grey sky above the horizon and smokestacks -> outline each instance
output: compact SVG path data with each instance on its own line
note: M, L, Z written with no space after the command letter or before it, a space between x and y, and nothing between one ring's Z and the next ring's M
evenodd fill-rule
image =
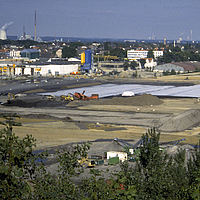
M200 40L200 0L0 0L7 35Z

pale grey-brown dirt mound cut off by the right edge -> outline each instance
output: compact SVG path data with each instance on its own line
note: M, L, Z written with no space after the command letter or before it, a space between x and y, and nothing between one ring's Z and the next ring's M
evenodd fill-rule
M178 116L172 117L165 121L159 130L166 132L184 131L200 123L200 109L187 110Z

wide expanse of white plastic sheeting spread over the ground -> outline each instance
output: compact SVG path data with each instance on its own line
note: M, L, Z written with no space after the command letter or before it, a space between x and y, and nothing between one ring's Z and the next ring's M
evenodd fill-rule
M124 91L133 92L135 95L144 93L155 96L174 96L174 97L197 97L200 98L200 85L194 86L155 86L155 85L141 85L141 84L105 84L95 85L91 87L73 88L67 90L60 90L51 93L40 93L41 95L67 95L75 92L82 93L85 90L85 95L99 94L99 98L121 95Z

